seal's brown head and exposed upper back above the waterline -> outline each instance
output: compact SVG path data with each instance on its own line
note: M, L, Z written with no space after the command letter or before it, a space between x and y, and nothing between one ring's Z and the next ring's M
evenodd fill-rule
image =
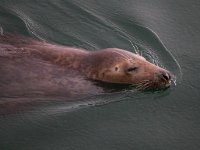
M171 83L169 71L140 55L118 48L89 52L15 34L0 36L0 42L0 49L7 57L38 58L67 70L77 70L92 80L133 84L142 90L165 88Z

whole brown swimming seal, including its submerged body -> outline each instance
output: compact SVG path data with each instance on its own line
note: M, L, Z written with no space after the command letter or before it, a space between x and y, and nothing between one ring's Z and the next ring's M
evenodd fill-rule
M89 52L23 35L0 35L0 113L104 92L87 79L145 90L168 87L171 75L144 57L118 48Z

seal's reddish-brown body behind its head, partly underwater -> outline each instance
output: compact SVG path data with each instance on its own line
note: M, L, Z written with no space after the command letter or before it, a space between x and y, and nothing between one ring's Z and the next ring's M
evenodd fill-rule
M73 69L76 64L69 63L73 60L63 60L63 53L79 59L87 52L22 35L0 36L0 113L51 100L84 99L103 91Z

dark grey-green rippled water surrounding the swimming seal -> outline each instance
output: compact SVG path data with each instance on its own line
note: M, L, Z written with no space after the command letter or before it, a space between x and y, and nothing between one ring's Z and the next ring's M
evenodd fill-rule
M2 0L1 33L139 52L176 81L165 91L123 90L2 115L0 149L198 150L199 9L197 0Z

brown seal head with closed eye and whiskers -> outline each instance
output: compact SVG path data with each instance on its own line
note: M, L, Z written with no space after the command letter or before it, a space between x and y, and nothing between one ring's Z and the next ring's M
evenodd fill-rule
M88 78L133 84L140 89L166 88L171 84L169 71L148 62L142 56L117 48L90 53L83 59L81 68Z

